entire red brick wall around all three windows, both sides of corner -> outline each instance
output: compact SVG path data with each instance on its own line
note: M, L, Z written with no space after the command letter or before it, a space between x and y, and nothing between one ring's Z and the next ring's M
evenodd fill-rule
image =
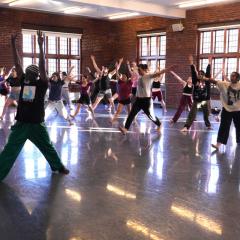
M172 32L177 19L145 17L133 20L108 22L84 17L70 17L49 13L16 11L0 8L0 66L12 65L10 34L21 32L22 23L73 27L83 29L82 69L90 65L89 55L94 53L99 65L109 64L116 58L134 60L137 57L137 32L162 29L167 33L167 66L178 64L176 72L186 79L189 76L188 55L197 57L199 25L240 20L240 3L219 5L187 11L183 32ZM21 42L19 42L21 49ZM176 107L182 86L167 75L167 105Z

